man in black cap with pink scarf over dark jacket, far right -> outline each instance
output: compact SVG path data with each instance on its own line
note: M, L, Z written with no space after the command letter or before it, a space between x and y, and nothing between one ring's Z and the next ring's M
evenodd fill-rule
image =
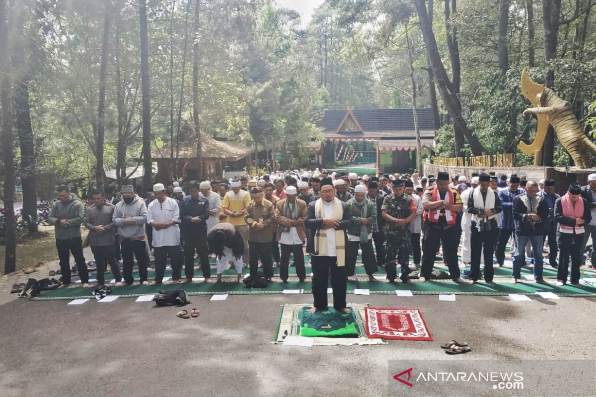
M567 193L555 202L555 221L557 221L557 242L559 246L559 264L557 285L567 283L569 274L569 256L571 255L571 283L579 286L579 267L582 264L582 242L585 224L592 220L588 201L581 196L579 183L571 183Z

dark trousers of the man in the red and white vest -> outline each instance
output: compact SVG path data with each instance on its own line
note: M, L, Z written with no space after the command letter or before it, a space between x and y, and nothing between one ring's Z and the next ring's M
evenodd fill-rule
M455 227L440 229L438 227L429 226L428 224L425 226L423 246L424 257L422 260L422 269L420 271L421 276L430 279L430 273L432 273L434 267L434 258L436 257L437 251L439 251L439 245L442 245L443 261L447 262L451 279L460 278L460 267L457 259L458 242L456 239L457 230Z

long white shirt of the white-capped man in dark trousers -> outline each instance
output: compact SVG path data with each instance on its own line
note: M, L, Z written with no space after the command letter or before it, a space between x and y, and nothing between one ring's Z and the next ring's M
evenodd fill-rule
M180 208L178 202L169 197L166 197L161 203L157 199L151 201L149 207L147 207L147 223L167 221L175 221L176 224L166 229L156 230L153 228L154 247L180 245L180 229L178 227Z

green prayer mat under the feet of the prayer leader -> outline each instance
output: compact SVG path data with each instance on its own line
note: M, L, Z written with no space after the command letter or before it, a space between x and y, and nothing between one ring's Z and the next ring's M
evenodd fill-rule
M300 336L308 337L358 337L356 318L352 308L349 313L328 308L309 313L309 307L300 311Z

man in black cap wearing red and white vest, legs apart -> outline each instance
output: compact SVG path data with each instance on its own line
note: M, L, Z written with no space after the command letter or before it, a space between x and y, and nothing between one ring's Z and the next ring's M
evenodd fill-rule
M446 172L440 171L436 182L436 185L430 186L424 192L422 200L426 224L422 269L418 281L426 282L430 279L434 258L440 244L443 247L443 260L447 262L451 279L456 283L463 283L457 258L459 242L455 233L457 212L463 210L460 193L449 189L449 174Z

